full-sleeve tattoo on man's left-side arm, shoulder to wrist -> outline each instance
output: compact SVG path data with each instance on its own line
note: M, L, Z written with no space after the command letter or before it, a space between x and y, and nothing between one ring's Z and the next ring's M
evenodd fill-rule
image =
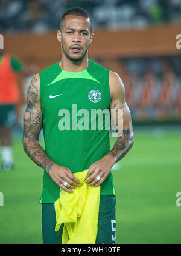
M39 134L42 129L43 114L39 103L37 81L38 79L34 76L27 91L23 145L28 157L30 157L34 163L45 169L46 172L51 173L54 162L48 158L45 150L39 144Z

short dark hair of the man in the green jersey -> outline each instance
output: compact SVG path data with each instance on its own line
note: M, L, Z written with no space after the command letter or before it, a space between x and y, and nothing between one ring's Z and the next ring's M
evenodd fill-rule
M85 18L90 19L90 33L92 32L93 22L92 17L89 15L89 13L86 12L86 10L82 8L71 8L67 10L65 13L63 13L62 18L60 19L60 30L62 30L62 24L65 19L65 16L67 15L75 15L75 16L81 16Z

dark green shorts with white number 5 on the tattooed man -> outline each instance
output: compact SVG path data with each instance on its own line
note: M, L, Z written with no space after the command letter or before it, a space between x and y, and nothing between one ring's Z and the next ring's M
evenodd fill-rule
M42 203L42 237L43 244L60 244L62 242L63 224L59 231L54 231L56 214L54 204ZM116 243L116 197L101 195L98 217L96 244Z

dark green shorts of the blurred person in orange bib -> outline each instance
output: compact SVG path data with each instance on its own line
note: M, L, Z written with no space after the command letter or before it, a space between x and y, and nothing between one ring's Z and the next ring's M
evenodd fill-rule
M0 104L0 126L12 127L16 122L15 104Z

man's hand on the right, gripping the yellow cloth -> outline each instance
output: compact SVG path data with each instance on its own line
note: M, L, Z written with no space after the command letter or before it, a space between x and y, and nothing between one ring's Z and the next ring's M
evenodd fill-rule
M101 160L93 163L87 172L87 176L85 178L85 180L87 179L86 183L93 187L100 186L100 184L106 180L114 163L114 158L109 154L105 155ZM98 180L97 176L101 179Z

